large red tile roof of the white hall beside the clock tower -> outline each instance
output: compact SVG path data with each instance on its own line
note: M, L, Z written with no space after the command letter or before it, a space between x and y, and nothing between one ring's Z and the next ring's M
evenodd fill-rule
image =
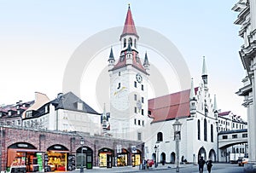
M195 93L198 88L195 88ZM189 117L190 89L171 95L164 95L148 101L149 115L154 118L152 123L172 120L175 118Z

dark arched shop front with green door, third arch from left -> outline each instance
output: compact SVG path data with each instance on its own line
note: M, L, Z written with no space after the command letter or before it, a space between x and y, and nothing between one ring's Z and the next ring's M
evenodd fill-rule
M83 152L82 152L83 150ZM90 147L79 147L76 152L76 160L77 160L77 168L81 168L81 166L86 167L86 169L92 169L93 165L93 154L92 149ZM83 157L83 163L82 163Z

